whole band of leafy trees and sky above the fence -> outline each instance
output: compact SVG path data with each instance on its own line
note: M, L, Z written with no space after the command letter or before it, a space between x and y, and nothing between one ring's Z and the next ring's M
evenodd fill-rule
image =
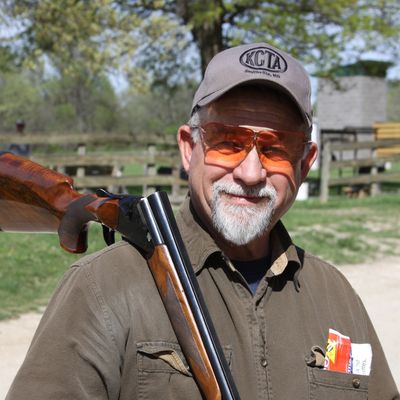
M27 94L0 102L1 125L25 114L41 131L170 132L188 108L176 93L230 45L266 41L327 73L369 50L398 61L400 43L398 0L4 0L0 20L0 84L22 73L7 85ZM110 73L129 80L122 105Z

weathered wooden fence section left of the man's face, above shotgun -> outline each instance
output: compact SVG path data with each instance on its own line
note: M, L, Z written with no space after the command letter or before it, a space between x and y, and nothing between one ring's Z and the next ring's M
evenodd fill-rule
M0 134L0 149L7 149L10 143L29 144L30 159L70 175L78 190L104 187L126 192L130 187L140 187L141 193L147 195L163 188L170 190L173 203L181 202L187 191L174 137ZM132 165L142 171L126 172Z

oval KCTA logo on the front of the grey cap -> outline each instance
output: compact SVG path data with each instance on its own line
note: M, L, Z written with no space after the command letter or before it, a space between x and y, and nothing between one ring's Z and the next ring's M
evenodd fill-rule
M254 47L245 51L239 59L240 63L251 69L270 72L285 72L286 60L275 50L268 47Z

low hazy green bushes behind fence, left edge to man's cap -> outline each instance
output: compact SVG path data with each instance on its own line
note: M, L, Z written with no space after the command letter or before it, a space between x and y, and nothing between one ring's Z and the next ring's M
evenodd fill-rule
M151 92L127 89L116 93L109 79L100 76L86 88L80 101L81 117L71 102L71 77L38 79L27 72L0 72L0 131L13 132L17 119L24 119L26 132L63 133L132 132L175 134L186 122L194 84L168 88L158 85ZM81 118L84 120L82 121Z

